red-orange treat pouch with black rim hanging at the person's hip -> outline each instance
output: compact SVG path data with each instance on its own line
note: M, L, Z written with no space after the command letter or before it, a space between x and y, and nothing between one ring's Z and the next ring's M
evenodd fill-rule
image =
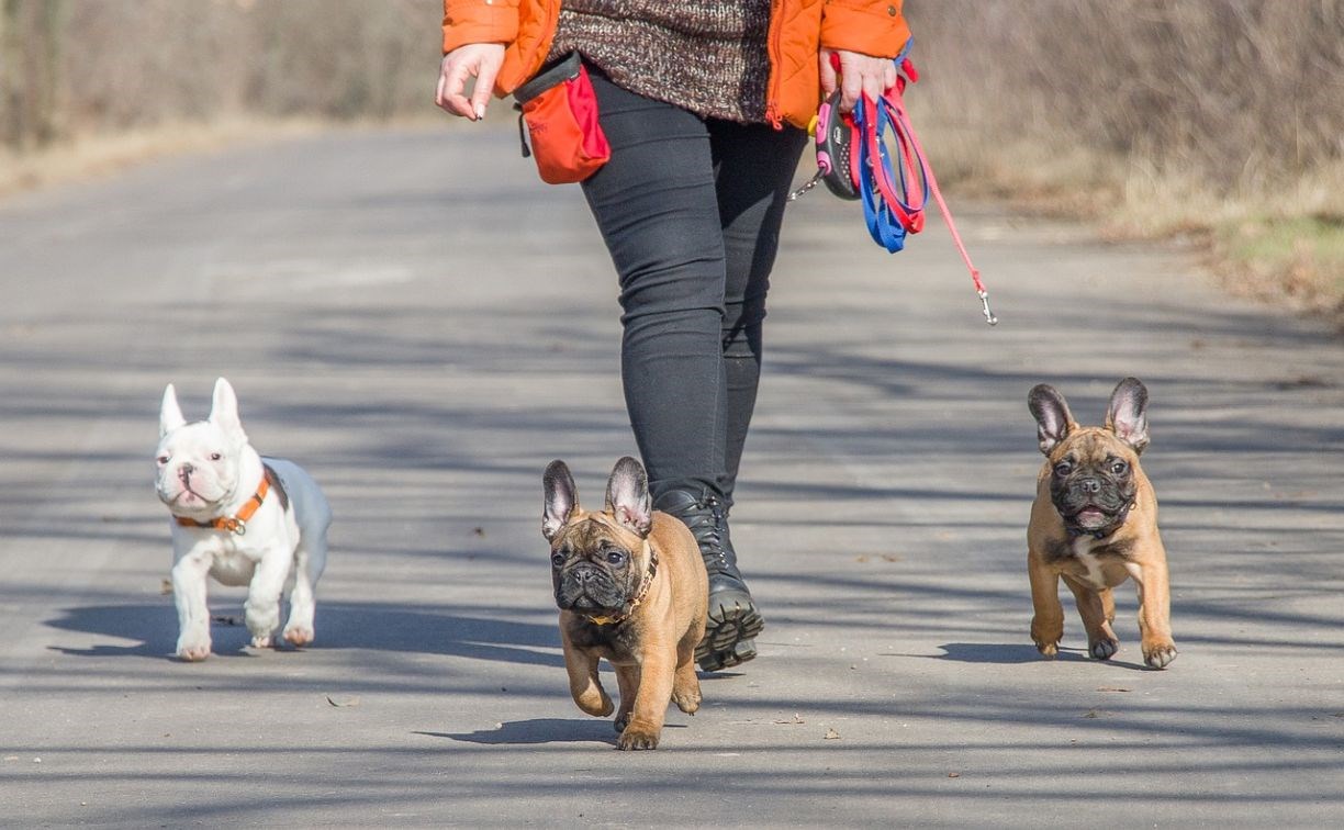
M578 52L517 87L513 99L517 102L513 107L521 111L520 140L527 125L523 156L536 158L542 181L583 181L612 157L612 146L598 124L593 82Z

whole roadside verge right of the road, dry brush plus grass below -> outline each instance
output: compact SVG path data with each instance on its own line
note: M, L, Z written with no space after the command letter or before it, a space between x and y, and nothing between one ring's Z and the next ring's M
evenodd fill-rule
M1344 321L1344 1L910 4L942 179Z

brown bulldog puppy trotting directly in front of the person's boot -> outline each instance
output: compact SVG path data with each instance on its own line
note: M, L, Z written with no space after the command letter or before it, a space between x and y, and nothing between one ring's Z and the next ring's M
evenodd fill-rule
M700 708L695 645L708 607L700 548L680 520L653 510L648 477L633 458L616 462L601 513L579 506L563 461L546 467L542 483L542 536L551 543L570 694L589 714L612 713L597 676L605 657L621 693L617 747L653 749L668 700L687 714Z

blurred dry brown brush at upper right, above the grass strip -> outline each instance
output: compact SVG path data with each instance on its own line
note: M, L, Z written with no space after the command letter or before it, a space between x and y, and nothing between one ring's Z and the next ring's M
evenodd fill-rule
M962 173L1074 158L1083 179L1175 176L1236 196L1344 158L1344 0L942 0L907 13L927 75L911 107L970 153L949 163Z

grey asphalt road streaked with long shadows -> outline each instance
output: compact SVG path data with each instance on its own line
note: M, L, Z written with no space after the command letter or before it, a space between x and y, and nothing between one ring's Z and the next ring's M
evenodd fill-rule
M481 128L481 130L495 128ZM0 825L1344 823L1344 349L1188 254L790 208L734 540L761 657L656 752L569 700L542 470L633 451L610 265L508 128L312 137L0 204ZM317 643L171 658L163 387L227 376L336 520ZM1152 395L1180 657L1028 635L1027 391ZM610 678L610 674L607 674ZM609 681L610 682L610 681Z

